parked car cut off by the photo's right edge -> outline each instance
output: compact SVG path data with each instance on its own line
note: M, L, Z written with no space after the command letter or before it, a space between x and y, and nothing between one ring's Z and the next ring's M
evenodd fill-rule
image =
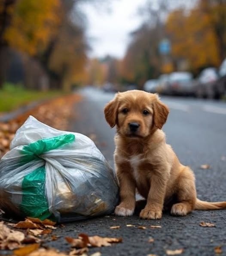
M215 98L226 96L226 59L223 60L219 68L219 79L215 86Z

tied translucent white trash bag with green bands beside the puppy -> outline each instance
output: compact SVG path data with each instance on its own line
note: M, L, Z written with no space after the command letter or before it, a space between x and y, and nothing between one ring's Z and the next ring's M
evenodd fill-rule
M0 160L0 209L6 213L69 222L110 214L118 200L113 169L89 137L33 116Z

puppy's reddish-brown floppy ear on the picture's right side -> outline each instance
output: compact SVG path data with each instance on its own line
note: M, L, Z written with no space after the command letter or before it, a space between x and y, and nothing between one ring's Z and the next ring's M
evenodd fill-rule
M166 119L168 117L169 109L164 103L162 103L159 99L153 103L154 110L154 124L156 128L162 129L162 126L165 124Z

